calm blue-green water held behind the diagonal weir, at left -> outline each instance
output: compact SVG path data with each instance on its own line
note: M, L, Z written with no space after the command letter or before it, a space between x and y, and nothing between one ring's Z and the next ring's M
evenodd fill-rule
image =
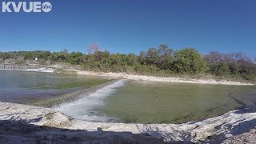
M62 94L98 86L108 79L0 70L0 102L33 104Z

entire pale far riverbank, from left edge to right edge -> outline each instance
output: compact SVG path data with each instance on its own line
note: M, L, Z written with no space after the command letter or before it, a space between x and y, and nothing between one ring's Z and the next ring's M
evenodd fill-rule
M36 72L48 72L48 73L65 73L65 74L78 74L86 76L99 76L107 78L124 78L135 81L145 81L145 82L175 82L175 83L195 83L195 84L214 84L214 85L234 85L234 86L254 86L254 83L250 82L236 82L230 80L216 80L210 78L174 78L174 77L155 77L146 76L138 74L126 74L126 73L104 73L104 72L94 72L88 70L77 70L73 68L62 69L62 66L52 65L52 66L41 66L40 68L26 68L26 69L16 69L15 66L10 66L8 69L0 70L22 70L22 71L36 71Z

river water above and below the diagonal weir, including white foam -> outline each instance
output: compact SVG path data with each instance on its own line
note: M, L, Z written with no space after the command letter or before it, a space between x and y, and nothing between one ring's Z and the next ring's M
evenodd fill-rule
M0 70L0 101L33 104L109 79ZM119 81L56 109L94 122L174 123L256 103L256 86Z

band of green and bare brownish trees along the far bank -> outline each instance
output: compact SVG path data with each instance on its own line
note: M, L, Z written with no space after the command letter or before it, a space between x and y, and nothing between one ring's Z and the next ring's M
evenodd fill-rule
M256 80L256 64L243 53L221 54L210 52L202 55L194 48L172 50L166 45L150 48L140 54L111 54L99 50L97 45L87 49L87 54L63 50L18 51L0 53L0 60L14 59L25 63L38 58L40 62L66 62L79 65L83 70L112 71L137 74L211 74L220 78Z

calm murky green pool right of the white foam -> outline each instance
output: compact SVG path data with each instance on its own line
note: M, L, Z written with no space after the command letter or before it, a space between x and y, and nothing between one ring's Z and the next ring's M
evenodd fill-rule
M255 86L129 82L95 109L118 122L170 123L214 117L255 102Z

